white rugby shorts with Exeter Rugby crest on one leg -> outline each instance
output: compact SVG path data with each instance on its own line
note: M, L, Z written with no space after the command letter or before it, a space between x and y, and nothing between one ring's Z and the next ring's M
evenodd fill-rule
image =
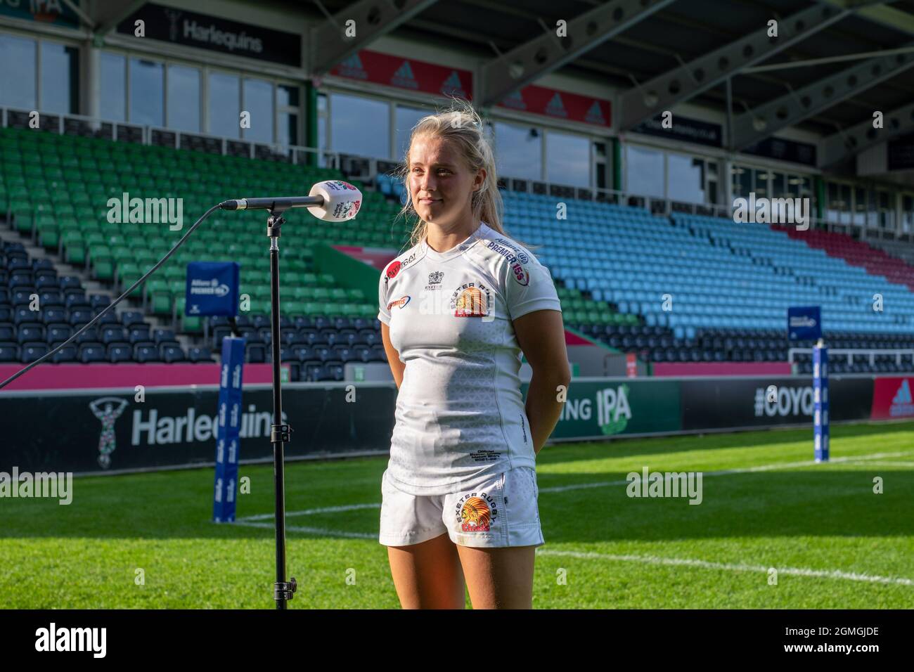
M409 495L381 478L385 546L409 546L445 532L455 544L483 549L542 546L539 486L533 467L518 466L482 485L447 495Z

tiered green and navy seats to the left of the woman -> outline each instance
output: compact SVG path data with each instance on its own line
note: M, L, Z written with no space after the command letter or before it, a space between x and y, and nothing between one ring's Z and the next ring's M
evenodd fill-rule
M120 201L124 193L130 197L153 193L155 197L183 197L184 224L189 226L206 208L227 197L298 193L303 185L342 177L339 171L327 168L8 128L0 131L0 161L0 208L12 228L118 293L152 267L186 229L171 230L167 222L111 223L109 198ZM112 165L123 169L115 172ZM282 361L291 365L293 380L342 379L348 361L386 361L375 318L377 298L346 289L332 274L315 273L313 248L322 241L390 246L390 215L396 209L380 193L367 192L357 225L348 228L322 227L310 216L294 211L286 214ZM129 339L119 339L117 334L107 334L109 342L101 343L104 348L93 342L93 347L80 349L80 358L208 360L228 327L184 315L186 263L228 258L239 261L240 291L250 297L250 312L239 320L248 337L247 357L251 362L269 361L266 240L262 213L237 212L227 217L217 213L159 273L134 290L131 298L139 315L164 319L173 329L172 336L186 336L192 347L185 350L174 337L143 340L131 334ZM10 277L8 283L14 280L20 282L19 276ZM85 316L77 313L72 319ZM12 350L5 352L5 356L13 354ZM15 354L26 357L22 347Z

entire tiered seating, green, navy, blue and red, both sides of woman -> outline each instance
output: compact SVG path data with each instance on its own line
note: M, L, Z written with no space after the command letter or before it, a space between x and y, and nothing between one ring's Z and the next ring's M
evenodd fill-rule
M297 193L302 185L344 177L331 168L12 128L0 130L0 161L0 212L11 229L112 293L133 284L185 229L172 230L167 222L109 222L109 198L180 195L189 225L226 197ZM343 379L347 362L386 361L375 297L314 268L318 242L398 250L405 243L406 229L392 226L404 197L402 183L378 174L377 190L356 186L365 194L357 222L330 228L287 213L282 361L290 365L292 380ZM786 307L802 303L823 306L832 347L914 347L914 266L844 234L684 213L664 217L575 198L563 201L567 220L557 227L556 197L519 191L504 196L505 227L550 267L566 325L644 361L785 361L789 347L811 345L788 344L783 332ZM250 311L238 320L248 338L248 361L270 361L262 229L262 213L217 213L133 292L131 310L109 316L55 360L211 361L230 327L218 318L184 315L186 263L229 258L239 261L241 293L250 297ZM110 300L87 298L79 277L58 279L51 261L30 260L21 245L5 246L0 277L4 361L39 356L69 336L68 329L72 333L96 315L102 299ZM16 312L29 290L46 291L49 283L47 298L61 304L48 304L42 294L46 319L35 323ZM904 310L890 317L871 310L874 293ZM153 329L144 320L161 321L165 328ZM797 360L800 372L811 367L808 357ZM911 368L909 356L834 362L836 372Z

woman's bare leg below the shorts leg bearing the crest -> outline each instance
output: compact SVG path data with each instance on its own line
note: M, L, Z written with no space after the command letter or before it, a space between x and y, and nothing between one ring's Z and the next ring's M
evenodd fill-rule
M532 609L536 546L458 546L473 609Z

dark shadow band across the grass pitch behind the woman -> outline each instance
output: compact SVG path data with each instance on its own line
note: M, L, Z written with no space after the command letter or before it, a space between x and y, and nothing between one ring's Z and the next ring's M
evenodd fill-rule
M663 467L652 467L661 471ZM380 472L367 465L357 480L317 481L289 474L287 511L369 505L287 518L289 527L305 526L377 534ZM168 483L145 475L142 482L96 479L69 506L48 499L5 499L0 539L140 538L272 539L269 527L218 525L211 518L211 474L196 472ZM251 475L251 492L239 499L239 517L272 511L271 470ZM883 479L885 494L873 493L873 479ZM355 477L355 475L354 475ZM375 479L377 478L377 482ZM630 497L625 475L572 473L539 476L539 512L552 542L682 540L752 537L889 537L914 535L914 470L816 465L791 471L703 475L701 504L688 496ZM98 481L101 481L99 483ZM123 487L112 487L122 481ZM612 483L564 489L569 485ZM364 485L362 485L364 484ZM561 490L553 490L553 487ZM245 498L249 497L249 498ZM290 532L290 539L321 539ZM344 539L324 535L326 539ZM369 539L370 540L370 539ZM0 546L2 555L2 546Z

